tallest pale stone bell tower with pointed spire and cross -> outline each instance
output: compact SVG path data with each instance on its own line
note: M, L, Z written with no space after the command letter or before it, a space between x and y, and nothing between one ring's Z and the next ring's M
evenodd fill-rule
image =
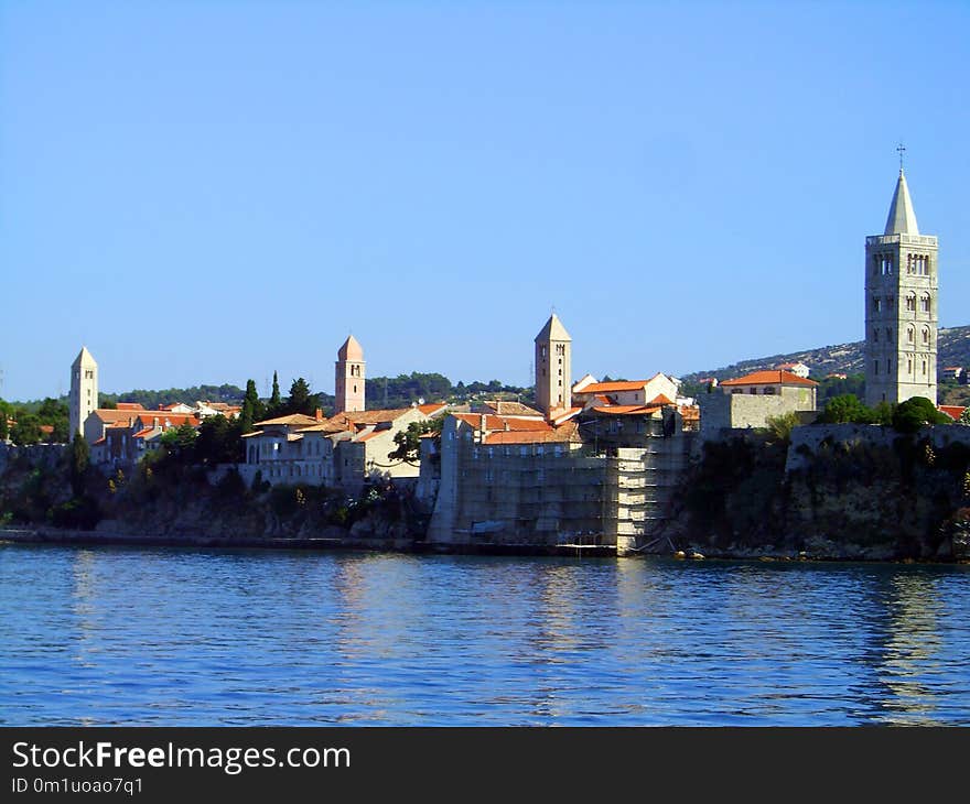
M886 230L865 238L865 401L936 404L937 239L920 235L899 169Z

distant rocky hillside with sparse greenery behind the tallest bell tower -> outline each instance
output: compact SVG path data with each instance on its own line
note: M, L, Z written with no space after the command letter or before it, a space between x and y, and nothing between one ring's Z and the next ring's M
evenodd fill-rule
M731 377L741 377L752 371L777 368L778 363L804 362L811 369L813 379L821 379L831 372L847 374L863 373L864 341L854 344L838 344L836 346L820 346L805 351L793 351L787 355L772 355L753 360L742 360L720 369L696 371L685 374L681 379L686 382L694 382L701 377L716 377L726 380ZM939 368L944 366L970 367L970 326L950 327L939 330Z

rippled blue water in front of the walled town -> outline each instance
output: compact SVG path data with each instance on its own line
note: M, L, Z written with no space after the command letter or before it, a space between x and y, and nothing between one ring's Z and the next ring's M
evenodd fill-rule
M6 725L970 725L970 567L0 547Z

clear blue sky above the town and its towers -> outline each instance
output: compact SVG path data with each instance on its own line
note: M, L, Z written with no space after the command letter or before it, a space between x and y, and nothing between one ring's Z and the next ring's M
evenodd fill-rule
M0 0L0 395L858 340L899 140L970 324L968 88L963 1Z

